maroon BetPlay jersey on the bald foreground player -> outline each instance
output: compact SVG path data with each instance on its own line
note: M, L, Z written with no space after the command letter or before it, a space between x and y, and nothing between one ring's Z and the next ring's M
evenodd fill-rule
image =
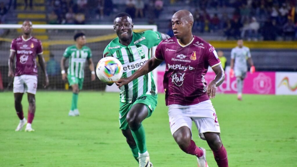
M213 46L196 36L187 45L172 37L158 45L155 57L166 63L166 105L193 105L209 99L204 76L208 66L221 63Z

